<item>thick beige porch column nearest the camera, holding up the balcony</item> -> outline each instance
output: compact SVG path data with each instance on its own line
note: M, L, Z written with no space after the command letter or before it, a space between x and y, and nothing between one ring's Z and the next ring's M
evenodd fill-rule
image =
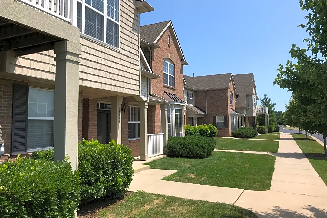
M73 171L77 170L78 132L78 65L80 44L71 41L55 43L55 124L54 161L68 155Z

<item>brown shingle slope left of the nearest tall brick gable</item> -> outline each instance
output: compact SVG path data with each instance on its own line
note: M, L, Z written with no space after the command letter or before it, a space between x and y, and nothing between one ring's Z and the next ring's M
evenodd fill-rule
M140 38L147 43L153 43L169 22L170 21L164 21L156 24L140 26Z

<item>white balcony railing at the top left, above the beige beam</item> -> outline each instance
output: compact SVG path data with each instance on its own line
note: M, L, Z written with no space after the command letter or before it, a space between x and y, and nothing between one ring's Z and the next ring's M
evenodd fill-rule
M47 14L71 23L70 14L74 0L18 0L32 8L39 9ZM75 0L76 1L76 0Z

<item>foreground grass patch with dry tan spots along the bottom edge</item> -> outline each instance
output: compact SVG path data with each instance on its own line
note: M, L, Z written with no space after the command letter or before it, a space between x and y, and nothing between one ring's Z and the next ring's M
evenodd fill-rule
M224 203L190 200L145 192L131 194L125 202L99 213L99 218L257 218L250 210Z

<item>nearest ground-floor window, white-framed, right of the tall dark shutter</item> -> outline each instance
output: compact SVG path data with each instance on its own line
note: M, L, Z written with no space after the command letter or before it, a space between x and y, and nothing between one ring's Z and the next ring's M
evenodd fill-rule
M53 147L55 92L29 88L27 151Z

